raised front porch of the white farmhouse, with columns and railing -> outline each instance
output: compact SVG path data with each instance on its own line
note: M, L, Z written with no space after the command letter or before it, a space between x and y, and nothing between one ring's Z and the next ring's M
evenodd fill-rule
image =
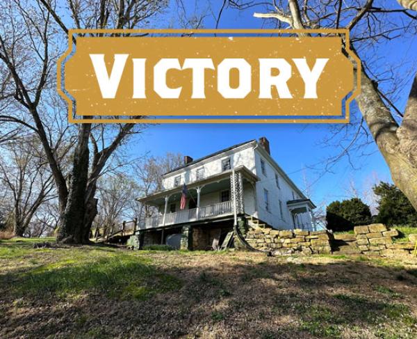
M138 222L138 230L163 228L181 223L204 221L209 219L236 217L255 208L254 194L248 194L253 201L244 201L244 187L247 193L255 191L258 178L245 166L234 170L211 175L208 178L186 183L188 194L186 209L180 210L182 185L155 194L139 198L148 206L154 207L157 215L147 216Z

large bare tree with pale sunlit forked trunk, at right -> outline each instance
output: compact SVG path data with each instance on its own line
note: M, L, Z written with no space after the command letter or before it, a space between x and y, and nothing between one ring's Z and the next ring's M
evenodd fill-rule
M363 66L361 95L356 98L361 118L353 116L351 124L336 127L334 135L343 139L343 147L341 154L331 162L350 157L353 150L360 152L362 146L373 139L390 168L393 182L417 209L416 66L411 62L408 68L414 82L402 113L393 104L393 98L404 82L409 81L408 74L404 74L404 68L395 72L395 65L386 68L386 61L381 60L384 56L375 52L379 44L400 36L411 38L416 33L417 16L408 10L415 10L416 2L402 0L400 3L406 9L376 7L373 0L228 1L231 8L240 10L262 6L263 12L254 13L254 17L274 20L279 28L350 30L350 45Z

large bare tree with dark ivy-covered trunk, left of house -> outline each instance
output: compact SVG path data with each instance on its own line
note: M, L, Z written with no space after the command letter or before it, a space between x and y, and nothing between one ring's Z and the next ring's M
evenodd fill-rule
M161 13L167 1L9 0L0 13L0 121L13 130L35 132L53 175L60 210L58 240L88 242L97 214L97 180L115 150L140 126L67 125L67 109L56 94L56 62L65 49L68 27L133 29ZM72 112L70 112L72 113ZM116 118L115 118L116 119ZM117 120L115 120L117 122ZM58 149L71 145L65 172ZM72 152L74 149L74 152ZM67 154L63 152L62 154Z

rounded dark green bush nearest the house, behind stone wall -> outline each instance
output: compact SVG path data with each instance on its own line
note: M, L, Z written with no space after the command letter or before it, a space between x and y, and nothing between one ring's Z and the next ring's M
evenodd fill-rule
M334 201L326 209L327 228L334 232L352 230L371 221L369 206L359 198Z

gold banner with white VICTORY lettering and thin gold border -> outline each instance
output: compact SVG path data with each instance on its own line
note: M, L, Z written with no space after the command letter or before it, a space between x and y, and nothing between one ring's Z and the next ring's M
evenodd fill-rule
M359 80L342 52L340 34L348 32L323 30L333 34L325 37L238 35L268 31L218 30L230 36L180 37L126 36L153 30L72 30L70 48L58 62L58 91L70 106L72 123L348 122L349 103L359 94L357 86L343 102ZM76 44L74 34L83 34L74 38ZM345 50L359 68L359 59L348 46Z

